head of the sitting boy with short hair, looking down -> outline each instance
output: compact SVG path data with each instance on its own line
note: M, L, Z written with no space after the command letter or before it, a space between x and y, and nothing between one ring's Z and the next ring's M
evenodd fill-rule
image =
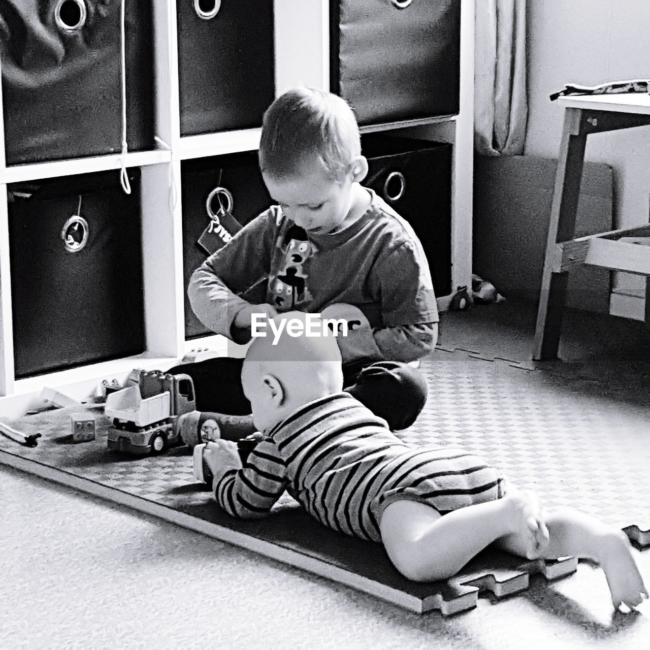
M259 166L269 193L305 230L329 232L352 205L368 163L354 112L340 97L294 88L264 116Z

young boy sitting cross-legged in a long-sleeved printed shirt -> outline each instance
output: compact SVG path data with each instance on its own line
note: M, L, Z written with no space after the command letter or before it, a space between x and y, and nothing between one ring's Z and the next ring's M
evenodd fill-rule
M368 163L354 113L328 92L286 92L266 111L259 164L278 204L194 272L194 313L239 344L250 341L255 315L347 315L357 329L342 348L346 389L391 430L410 426L426 401L426 383L408 362L433 350L437 305L413 229L360 185ZM251 408L241 364L222 357L170 372L192 376L200 411L245 415Z

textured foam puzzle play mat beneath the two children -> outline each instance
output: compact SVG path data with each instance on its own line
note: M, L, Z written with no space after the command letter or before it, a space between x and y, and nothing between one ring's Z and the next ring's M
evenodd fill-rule
M485 363L438 350L424 359L429 399L419 420L398 432L417 445L471 448L548 507L570 504L623 528L640 549L650 547L650 420L643 408L612 409L606 395L577 394L557 377ZM619 405L620 406L620 405ZM73 424L74 422L74 424ZM445 582L402 577L383 547L320 525L285 494L259 521L220 511L192 473L192 448L153 454L109 448L103 404L47 409L8 422L35 446L0 436L0 462L161 517L366 591L408 610L456 614L478 595L495 599L528 588L530 575L571 575L575 558L530 562L486 549ZM155 451L155 450L154 450Z

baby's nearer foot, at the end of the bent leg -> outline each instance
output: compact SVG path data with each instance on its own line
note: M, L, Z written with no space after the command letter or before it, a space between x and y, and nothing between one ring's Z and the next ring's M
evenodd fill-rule
M508 486L502 502L512 521L512 532L519 544L523 545L526 558L538 558L549 543L549 530L544 523L538 495L530 490Z

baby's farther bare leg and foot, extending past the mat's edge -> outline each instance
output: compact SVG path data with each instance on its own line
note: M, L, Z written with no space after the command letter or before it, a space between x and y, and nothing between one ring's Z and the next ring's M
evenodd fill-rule
M527 493L522 494L527 496ZM530 552L525 530L500 539L499 545L528 558L554 560L575 556L597 562L603 568L616 608L621 603L634 607L641 603L643 596L647 597L630 542L623 531L571 508L549 512L543 520L549 530L549 539L537 552Z

